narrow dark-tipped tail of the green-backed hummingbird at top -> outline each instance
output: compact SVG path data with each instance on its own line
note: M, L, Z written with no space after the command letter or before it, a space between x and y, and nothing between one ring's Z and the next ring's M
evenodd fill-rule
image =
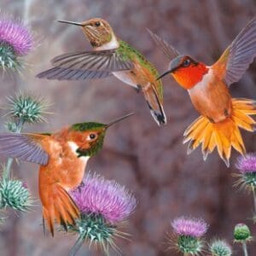
M160 98L154 90L153 86L149 86L146 90L143 89L143 94L145 96L146 102L148 103L150 113L156 123L159 126L166 125L166 113L164 111L163 105L160 103Z

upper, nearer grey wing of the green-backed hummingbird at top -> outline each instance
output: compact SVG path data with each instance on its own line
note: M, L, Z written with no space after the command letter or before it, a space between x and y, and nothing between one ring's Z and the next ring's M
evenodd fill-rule
M131 61L125 60L115 50L77 52L59 55L51 61L55 67L69 69L116 72L129 70L133 67Z

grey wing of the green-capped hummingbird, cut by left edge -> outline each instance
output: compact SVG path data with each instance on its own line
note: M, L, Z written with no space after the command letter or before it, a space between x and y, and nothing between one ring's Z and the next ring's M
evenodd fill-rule
M39 143L44 137L34 134L0 133L0 155L44 166L49 160L49 154Z

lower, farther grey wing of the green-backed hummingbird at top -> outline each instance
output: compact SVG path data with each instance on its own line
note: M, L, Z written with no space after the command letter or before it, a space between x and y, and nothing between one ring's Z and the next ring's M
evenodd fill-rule
M105 79L111 76L108 71L79 70L64 67L53 67L37 74L38 79L56 80L84 80L84 79Z

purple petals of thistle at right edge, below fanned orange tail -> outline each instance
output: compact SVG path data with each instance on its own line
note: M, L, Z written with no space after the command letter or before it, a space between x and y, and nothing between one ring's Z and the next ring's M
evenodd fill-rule
M250 153L237 159L236 168L241 174L256 172L256 154Z

